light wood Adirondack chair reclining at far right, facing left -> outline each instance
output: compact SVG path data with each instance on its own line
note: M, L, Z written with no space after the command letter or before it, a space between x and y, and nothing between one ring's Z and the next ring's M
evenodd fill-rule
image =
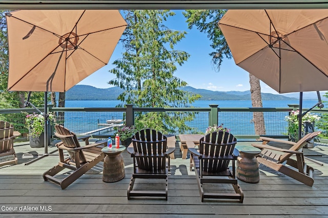
M292 177L305 185L312 186L314 183L313 168L306 165L302 148L320 133L320 131L308 133L298 142L260 137L263 141L262 144L253 143L252 146L262 150L261 154L257 157L259 163L262 163L275 171L283 173L286 176ZM290 149L276 148L267 144L270 141L289 143L292 147ZM296 156L296 159L292 158L294 155ZM288 167L286 165L290 165L292 167Z

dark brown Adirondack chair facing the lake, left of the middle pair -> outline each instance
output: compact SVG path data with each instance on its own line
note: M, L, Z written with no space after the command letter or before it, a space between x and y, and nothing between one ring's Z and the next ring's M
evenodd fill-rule
M132 137L133 147L128 152L133 157L133 174L128 187L128 199L131 197L165 197L168 200L168 172L170 167L170 154L175 148L168 148L167 137L151 129L137 132ZM165 179L165 191L133 190L136 178Z

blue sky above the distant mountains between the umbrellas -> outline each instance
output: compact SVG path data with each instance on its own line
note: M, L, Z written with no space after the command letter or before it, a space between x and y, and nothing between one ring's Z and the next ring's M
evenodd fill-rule
M214 69L209 55L213 49L207 35L200 33L196 28L188 29L186 18L182 10L176 10L176 15L170 17L167 27L179 31L187 31L187 35L175 49L188 52L190 58L182 66L178 66L174 75L194 88L209 89L213 91L246 91L250 90L249 73L238 67L233 59L224 59L220 71ZM79 85L91 85L97 88L112 87L108 82L114 78L109 72L114 67L113 61L121 58L122 46L119 43L107 66L97 70ZM261 92L277 94L267 84L261 82Z

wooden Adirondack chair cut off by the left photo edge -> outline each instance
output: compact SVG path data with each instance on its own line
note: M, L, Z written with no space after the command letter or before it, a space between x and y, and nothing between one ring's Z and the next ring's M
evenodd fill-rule
M19 135L12 124L0 120L0 166L17 164L14 139Z

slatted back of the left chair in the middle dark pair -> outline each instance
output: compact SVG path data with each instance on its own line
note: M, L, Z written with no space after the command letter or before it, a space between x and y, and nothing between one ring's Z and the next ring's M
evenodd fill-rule
M166 167L167 137L156 130L144 129L132 136L138 168L155 172Z

